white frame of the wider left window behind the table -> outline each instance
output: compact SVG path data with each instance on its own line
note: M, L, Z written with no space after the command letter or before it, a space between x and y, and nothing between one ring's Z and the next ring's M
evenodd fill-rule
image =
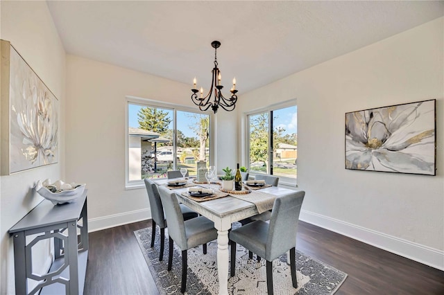
M146 107L158 107L161 109L171 109L173 110L173 146L177 146L176 141L176 134L177 134L177 118L176 118L176 111L189 111L191 113L202 113L205 115L210 115L210 163L214 163L214 140L212 139L212 135L214 134L214 128L213 128L213 117L212 113L210 111L200 111L199 109L196 109L195 107L189 107L186 105L178 105L173 104L171 102L162 102L159 100L152 100L148 98L138 98L135 96L126 96L125 99L125 188L127 190L130 189L138 189L138 188L145 188L144 179L138 179L138 180L129 180L129 142L128 142L128 104L135 104L135 105L143 105ZM173 159L177 158L177 151L176 148L173 151ZM175 164L176 160L175 160Z

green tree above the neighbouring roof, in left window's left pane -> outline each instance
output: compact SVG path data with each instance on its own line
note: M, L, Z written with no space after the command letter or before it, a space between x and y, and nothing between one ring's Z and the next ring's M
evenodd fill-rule
M151 132L166 134L171 118L169 112L155 107L142 107L137 113L139 127Z

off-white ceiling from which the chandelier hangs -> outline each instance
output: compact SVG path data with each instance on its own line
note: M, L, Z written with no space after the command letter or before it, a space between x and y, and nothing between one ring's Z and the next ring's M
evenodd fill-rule
M444 1L47 1L69 54L239 94L444 15ZM190 91L191 93L191 91Z

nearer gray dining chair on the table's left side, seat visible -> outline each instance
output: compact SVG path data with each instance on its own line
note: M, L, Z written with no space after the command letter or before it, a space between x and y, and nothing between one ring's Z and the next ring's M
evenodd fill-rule
M171 271L173 262L173 242L182 250L182 283L180 292L185 293L187 288L188 253L187 250L200 244L207 244L217 239L217 230L214 222L207 217L199 216L185 220L180 214L180 206L175 193L163 186L159 187L160 199L167 216L169 235L168 271Z

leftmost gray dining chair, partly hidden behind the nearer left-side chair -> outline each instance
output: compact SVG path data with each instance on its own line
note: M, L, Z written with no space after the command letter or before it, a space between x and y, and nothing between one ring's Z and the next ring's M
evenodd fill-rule
M155 229L156 225L160 228L160 254L159 260L164 258L164 244L165 244L165 228L167 223L165 222L164 207L160 201L159 191L157 185L150 179L145 179L146 193L148 193L148 200L150 202L151 218L153 220L153 231L151 233L151 247L154 247ZM198 214L192 211L187 206L180 204L180 212L182 213L184 220L197 217ZM205 251L206 252L206 251Z

